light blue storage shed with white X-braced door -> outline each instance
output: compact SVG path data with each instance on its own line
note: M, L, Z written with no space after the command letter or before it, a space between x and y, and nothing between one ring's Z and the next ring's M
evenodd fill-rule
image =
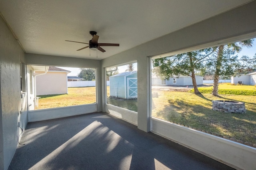
M122 72L109 77L110 96L116 98L137 98L137 71Z

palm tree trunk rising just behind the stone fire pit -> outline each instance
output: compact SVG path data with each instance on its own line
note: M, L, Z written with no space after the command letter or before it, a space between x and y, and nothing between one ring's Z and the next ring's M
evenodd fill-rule
M218 96L218 84L219 84L219 77L220 77L220 70L221 70L221 63L222 63L222 55L223 55L223 49L224 45L220 45L218 47L218 57L216 61L216 70L214 73L214 79L213 79L213 90L212 95Z

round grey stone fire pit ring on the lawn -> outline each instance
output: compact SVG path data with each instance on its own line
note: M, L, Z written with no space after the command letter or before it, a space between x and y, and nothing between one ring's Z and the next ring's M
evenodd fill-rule
M244 102L212 100L212 109L226 113L246 113Z

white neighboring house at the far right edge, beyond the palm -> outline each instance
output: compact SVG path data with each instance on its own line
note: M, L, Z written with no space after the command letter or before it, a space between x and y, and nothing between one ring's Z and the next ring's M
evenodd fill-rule
M242 84L256 85L256 71L249 74L231 77L231 83L238 84L238 82L241 82Z

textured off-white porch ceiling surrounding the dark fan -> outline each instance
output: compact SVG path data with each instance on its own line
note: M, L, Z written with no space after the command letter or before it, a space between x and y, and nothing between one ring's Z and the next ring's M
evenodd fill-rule
M26 53L104 59L251 0L0 0L0 12ZM210 27L209 27L210 29ZM105 53L88 43L97 31Z

